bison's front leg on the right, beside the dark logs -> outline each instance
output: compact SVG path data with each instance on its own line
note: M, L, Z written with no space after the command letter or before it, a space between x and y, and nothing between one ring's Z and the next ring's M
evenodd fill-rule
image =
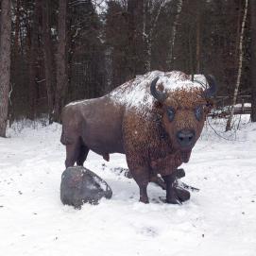
M166 202L172 204L181 204L176 190L176 172L171 175L162 176L166 184Z

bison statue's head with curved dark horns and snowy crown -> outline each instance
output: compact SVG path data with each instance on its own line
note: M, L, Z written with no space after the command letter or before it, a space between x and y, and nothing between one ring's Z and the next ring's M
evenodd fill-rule
M211 75L205 78L205 83L192 82L188 77L178 80L171 90L164 89L164 79L156 77L151 82L150 92L158 100L162 128L169 135L171 145L184 153L190 152L196 144L206 115L213 106L215 79Z

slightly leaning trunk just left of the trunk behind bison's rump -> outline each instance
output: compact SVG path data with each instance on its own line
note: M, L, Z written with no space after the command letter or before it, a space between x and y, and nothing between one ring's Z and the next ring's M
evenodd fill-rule
M49 123L53 122L53 99L54 99L54 72L53 52L51 42L51 27L49 25L49 0L41 0L43 11L43 58L45 70L45 84L47 92Z

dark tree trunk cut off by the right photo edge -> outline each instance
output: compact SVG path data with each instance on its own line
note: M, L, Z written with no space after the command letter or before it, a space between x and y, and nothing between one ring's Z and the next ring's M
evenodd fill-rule
M256 1L250 0L250 72L251 72L251 122L256 122Z

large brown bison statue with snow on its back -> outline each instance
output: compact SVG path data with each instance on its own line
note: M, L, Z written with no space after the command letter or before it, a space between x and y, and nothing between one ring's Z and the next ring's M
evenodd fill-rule
M179 71L153 71L110 94L65 106L60 141L66 146L66 167L83 165L89 150L106 161L111 153L122 153L140 201L148 203L148 182L161 175L166 202L180 203L176 171L189 161L216 92L213 76L199 77L192 81Z

